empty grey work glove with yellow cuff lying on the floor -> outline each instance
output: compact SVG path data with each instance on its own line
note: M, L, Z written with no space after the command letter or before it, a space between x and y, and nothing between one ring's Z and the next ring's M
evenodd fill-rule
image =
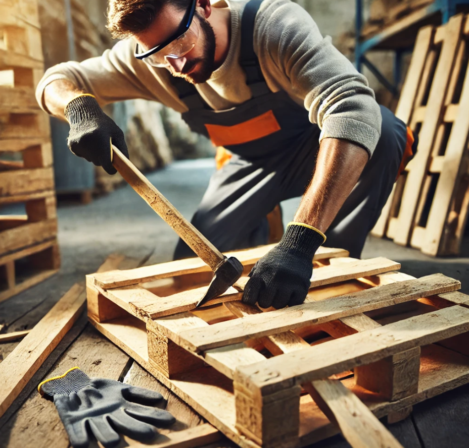
M136 440L149 440L155 427L168 426L175 418L153 406L163 396L153 390L119 381L89 378L78 367L38 386L43 397L54 400L73 448L86 448L91 434L105 448L116 446L122 433Z

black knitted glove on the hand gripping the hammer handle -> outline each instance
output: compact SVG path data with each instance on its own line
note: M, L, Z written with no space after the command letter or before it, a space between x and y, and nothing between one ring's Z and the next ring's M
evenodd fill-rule
M129 153L124 133L109 118L92 95L72 99L65 107L70 124L68 147L74 154L102 166L106 173L116 174L111 161L111 140L127 158Z

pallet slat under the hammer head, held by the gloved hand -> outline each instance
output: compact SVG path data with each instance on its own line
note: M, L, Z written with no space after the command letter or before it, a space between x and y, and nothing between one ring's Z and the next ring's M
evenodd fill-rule
M340 259L338 259L340 260ZM398 269L399 263L386 258L373 258L370 260L354 260L350 263L337 263L314 269L311 288L343 282L351 278L360 278L367 275L376 275L381 272ZM91 281L92 275L88 276ZM95 277L96 278L96 277ZM244 285L248 277L241 277L239 281L216 299L207 302L208 305L216 303L241 300ZM236 288L236 289L235 289ZM117 303L130 314L139 319L157 319L160 317L190 311L196 308L199 299L207 292L207 286L189 291L173 294L167 297L157 297L140 286L113 288L104 291L97 288L101 294Z

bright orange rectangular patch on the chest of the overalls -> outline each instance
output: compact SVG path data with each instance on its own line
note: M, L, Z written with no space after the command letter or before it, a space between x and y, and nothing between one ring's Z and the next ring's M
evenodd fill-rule
M221 126L206 124L205 127L215 146L241 145L280 130L280 125L272 110L238 125Z

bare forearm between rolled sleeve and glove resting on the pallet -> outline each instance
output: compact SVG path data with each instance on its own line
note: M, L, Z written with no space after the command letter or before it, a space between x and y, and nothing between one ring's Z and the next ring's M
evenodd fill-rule
M368 153L347 140L323 139L316 169L300 206L296 222L325 232L358 181Z

